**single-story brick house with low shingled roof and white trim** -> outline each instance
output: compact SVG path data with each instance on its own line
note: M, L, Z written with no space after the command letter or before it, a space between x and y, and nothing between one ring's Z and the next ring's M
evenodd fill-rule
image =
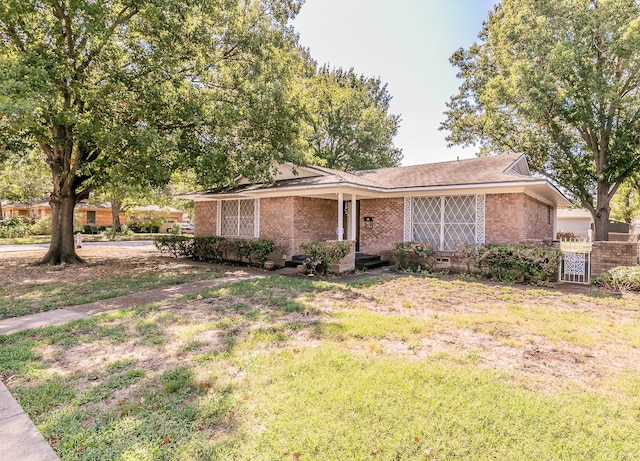
M464 243L542 242L569 201L531 176L524 155L345 173L280 165L273 183L238 178L232 187L182 195L195 202L196 235L268 238L275 260L310 241L350 240L388 253L402 241L439 251Z

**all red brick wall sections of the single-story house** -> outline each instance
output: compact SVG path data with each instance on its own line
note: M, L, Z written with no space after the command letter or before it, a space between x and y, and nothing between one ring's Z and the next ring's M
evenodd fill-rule
M260 200L260 237L277 245L274 260L300 253L300 244L336 239L337 200L273 197ZM553 210L551 210L553 213ZM217 202L196 202L196 235L216 233ZM485 200L485 241L542 242L553 239L553 215L546 204L525 195L488 194ZM372 217L367 228L364 218ZM360 200L360 251L388 254L404 239L404 198Z

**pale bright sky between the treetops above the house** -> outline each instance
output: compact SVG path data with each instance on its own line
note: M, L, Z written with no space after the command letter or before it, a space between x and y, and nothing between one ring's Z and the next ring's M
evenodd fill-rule
M293 26L319 65L380 77L401 116L403 165L471 158L447 147L445 103L461 81L449 57L477 41L496 0L306 0Z

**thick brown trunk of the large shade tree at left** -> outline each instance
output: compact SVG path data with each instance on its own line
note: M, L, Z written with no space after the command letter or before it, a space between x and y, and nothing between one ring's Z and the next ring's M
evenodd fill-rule
M76 254L73 239L73 211L76 206L74 194L52 197L51 245L49 251L36 264L78 264L84 260Z

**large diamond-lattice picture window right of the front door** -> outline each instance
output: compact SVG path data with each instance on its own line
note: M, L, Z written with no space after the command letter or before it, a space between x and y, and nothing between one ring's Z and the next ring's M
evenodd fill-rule
M476 243L476 202L475 195L414 197L411 200L412 240L429 242L440 251L452 251L461 244Z

